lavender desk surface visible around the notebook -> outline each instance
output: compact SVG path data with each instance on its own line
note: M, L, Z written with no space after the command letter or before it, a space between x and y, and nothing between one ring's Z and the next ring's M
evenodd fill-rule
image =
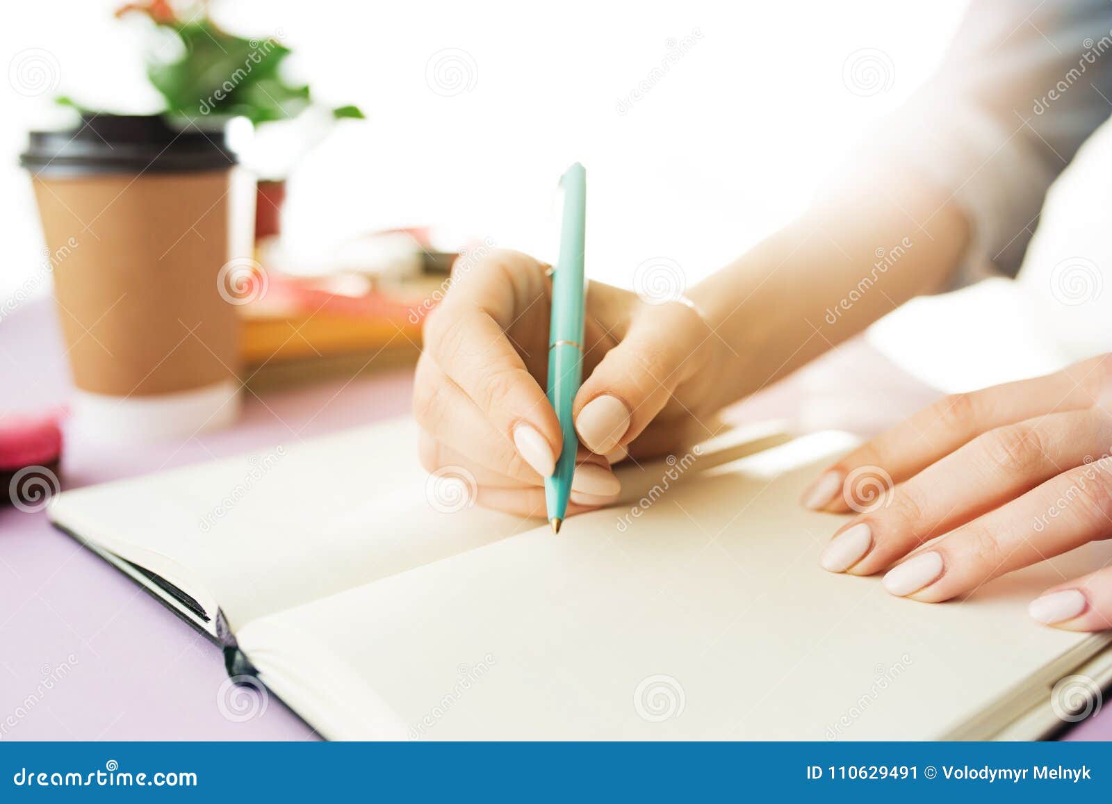
M64 404L63 348L46 301L0 324L0 413ZM847 370L852 365L853 371ZM860 395L863 378L870 406ZM408 370L247 394L239 424L143 449L67 441L68 488L331 433L409 409ZM936 396L852 341L732 417L875 431ZM866 410L867 408L867 410ZM56 668L64 666L63 672ZM220 652L46 515L0 509L0 740L312 740L279 702L229 698ZM237 713L242 713L237 714ZM1112 705L1071 740L1112 740Z

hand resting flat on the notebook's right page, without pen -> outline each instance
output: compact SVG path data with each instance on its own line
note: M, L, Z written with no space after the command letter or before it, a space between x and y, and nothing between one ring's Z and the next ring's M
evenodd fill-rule
M826 547L824 568L887 569L888 592L937 603L1112 537L1110 455L1104 355L946 397L832 466L803 503L858 512ZM1030 613L1070 631L1112 628L1112 567L1046 589Z

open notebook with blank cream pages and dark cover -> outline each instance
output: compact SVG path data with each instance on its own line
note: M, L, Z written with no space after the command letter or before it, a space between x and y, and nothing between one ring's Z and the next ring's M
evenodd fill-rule
M625 503L559 536L468 507L415 439L360 428L66 492L50 517L331 738L1031 737L1062 725L1059 679L1112 667L1108 635L1025 614L1109 543L944 605L823 572L840 517L796 500L843 434L632 467Z

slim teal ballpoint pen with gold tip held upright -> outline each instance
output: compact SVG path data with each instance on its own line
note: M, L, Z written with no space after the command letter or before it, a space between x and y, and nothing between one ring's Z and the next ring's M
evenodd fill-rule
M560 178L564 220L559 257L553 271L553 308L548 326L548 401L556 410L564 443L552 477L545 478L545 504L553 533L559 533L572 494L575 455L579 439L572 420L572 404L583 380L584 277L587 171L579 162Z

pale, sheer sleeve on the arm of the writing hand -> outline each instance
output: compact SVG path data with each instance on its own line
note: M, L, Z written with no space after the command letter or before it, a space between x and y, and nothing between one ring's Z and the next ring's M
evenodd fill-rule
M1048 189L1110 111L1108 0L973 0L939 73L867 150L966 214L956 284L1014 276Z

